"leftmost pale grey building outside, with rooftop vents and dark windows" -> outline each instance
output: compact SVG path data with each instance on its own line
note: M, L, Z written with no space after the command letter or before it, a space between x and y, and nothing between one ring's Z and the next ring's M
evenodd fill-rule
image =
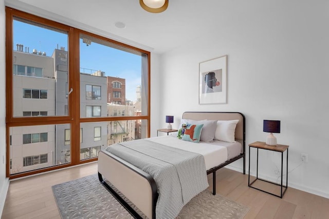
M55 115L53 59L35 50L27 53L22 49L14 51L13 57L13 115ZM54 125L11 127L9 132L11 173L49 167L56 163L53 153Z

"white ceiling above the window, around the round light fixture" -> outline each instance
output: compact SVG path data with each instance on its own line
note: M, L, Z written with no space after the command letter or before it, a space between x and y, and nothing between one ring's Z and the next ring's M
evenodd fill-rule
M231 1L229 1L231 2ZM169 0L162 13L138 0L6 0L5 5L103 35L154 53L165 53L223 23L227 1ZM222 11L221 11L222 10ZM123 29L115 26L123 22Z

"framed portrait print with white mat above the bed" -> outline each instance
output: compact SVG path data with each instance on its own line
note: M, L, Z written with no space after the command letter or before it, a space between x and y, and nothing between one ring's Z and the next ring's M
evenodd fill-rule
M199 63L199 104L227 103L227 55Z

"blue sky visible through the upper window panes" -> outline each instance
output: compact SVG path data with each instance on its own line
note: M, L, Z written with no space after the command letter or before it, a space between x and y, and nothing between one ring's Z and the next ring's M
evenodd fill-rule
M14 21L13 49L22 44L23 51L32 53L33 49L46 52L51 56L54 49L65 47L67 51L67 34ZM90 46L80 40L80 67L101 70L106 76L121 77L126 80L126 98L136 100L136 87L141 85L141 56L124 52L92 42ZM86 73L90 73L87 72Z

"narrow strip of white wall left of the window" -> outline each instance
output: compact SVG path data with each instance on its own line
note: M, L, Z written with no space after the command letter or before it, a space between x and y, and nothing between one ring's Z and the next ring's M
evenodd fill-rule
M0 38L6 38L5 2L0 0ZM4 40L0 41L0 93L6 93L6 58ZM6 178L6 96L0 95L0 215L5 205L9 180Z

